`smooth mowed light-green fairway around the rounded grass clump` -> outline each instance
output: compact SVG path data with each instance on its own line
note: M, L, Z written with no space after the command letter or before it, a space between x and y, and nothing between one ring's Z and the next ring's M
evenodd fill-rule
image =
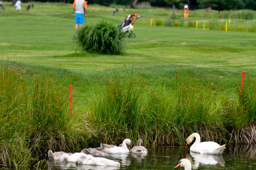
M100 12L97 13L96 8ZM126 9L115 18L111 16L111 10L107 7L88 6L86 22L105 18L117 25L122 22L120 16L125 17L134 12ZM138 12L143 15L142 9ZM126 52L108 56L81 53L76 48L71 4L36 3L31 11L24 11L24 7L23 11L15 11L12 6L7 6L7 10L1 13L1 59L79 71L168 63L216 68L256 68L255 33L135 23L136 38L127 39Z

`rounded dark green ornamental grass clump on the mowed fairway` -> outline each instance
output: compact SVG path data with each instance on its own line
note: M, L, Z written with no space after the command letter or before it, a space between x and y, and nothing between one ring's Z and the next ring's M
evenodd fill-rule
M122 30L104 20L85 24L78 32L77 42L82 50L93 53L120 54L125 49Z

